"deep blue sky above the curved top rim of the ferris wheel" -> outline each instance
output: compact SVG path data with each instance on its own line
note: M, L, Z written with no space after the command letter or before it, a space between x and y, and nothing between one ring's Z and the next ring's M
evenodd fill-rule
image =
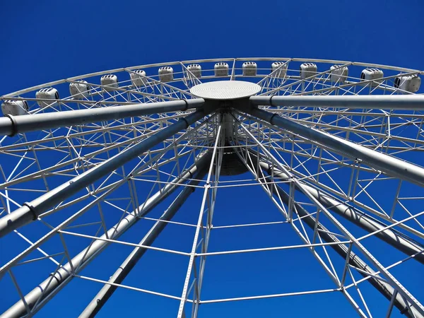
M122 66L310 57L423 69L420 1L2 1L1 93Z

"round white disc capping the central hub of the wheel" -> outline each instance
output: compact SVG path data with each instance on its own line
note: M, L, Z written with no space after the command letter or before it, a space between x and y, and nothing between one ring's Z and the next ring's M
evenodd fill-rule
M190 88L190 93L205 100L238 100L256 95L261 86L245 81L214 81Z

